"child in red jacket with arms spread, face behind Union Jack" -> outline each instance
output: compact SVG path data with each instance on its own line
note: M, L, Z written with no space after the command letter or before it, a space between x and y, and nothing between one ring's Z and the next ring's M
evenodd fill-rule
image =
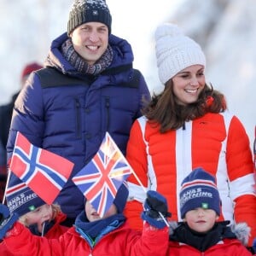
M142 214L146 222L143 234L131 230L126 223L123 210L128 189L122 184L112 206L102 218L86 201L84 211L78 215L73 227L58 239L32 236L24 225L15 222L15 215L10 215L5 206L0 205L0 237L4 236L3 241L13 253L27 256L165 256L169 236L165 217L170 216L166 198L151 190L147 196Z

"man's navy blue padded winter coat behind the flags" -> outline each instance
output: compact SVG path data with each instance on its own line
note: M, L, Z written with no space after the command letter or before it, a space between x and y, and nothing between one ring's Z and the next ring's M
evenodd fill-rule
M125 154L142 98L150 95L143 75L132 68L131 45L124 39L109 36L113 62L95 77L78 73L63 58L60 49L66 40L64 33L53 41L46 68L32 73L20 91L7 150L10 159L20 131L35 146L73 161L73 177L96 154L106 131ZM84 195L71 178L56 202L68 218L84 209Z

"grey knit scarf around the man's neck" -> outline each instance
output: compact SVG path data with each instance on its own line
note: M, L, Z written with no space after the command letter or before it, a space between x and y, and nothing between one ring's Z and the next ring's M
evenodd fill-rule
M84 59L75 51L71 38L68 38L61 45L61 53L64 58L73 66L79 73L90 75L97 75L102 73L113 60L113 49L108 45L108 48L103 53L102 57L96 61L94 65L89 65Z

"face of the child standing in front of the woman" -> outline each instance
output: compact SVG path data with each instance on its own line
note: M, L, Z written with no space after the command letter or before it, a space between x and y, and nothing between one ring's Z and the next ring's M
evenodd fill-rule
M212 229L217 219L218 215L212 209L196 208L186 213L184 221L191 230L207 232Z

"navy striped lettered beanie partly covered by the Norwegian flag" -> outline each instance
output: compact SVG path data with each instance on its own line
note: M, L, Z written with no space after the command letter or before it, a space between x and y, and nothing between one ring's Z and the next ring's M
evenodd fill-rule
M46 204L26 183L23 183L13 172L10 173L6 201L9 211L18 213L19 217L32 212Z

